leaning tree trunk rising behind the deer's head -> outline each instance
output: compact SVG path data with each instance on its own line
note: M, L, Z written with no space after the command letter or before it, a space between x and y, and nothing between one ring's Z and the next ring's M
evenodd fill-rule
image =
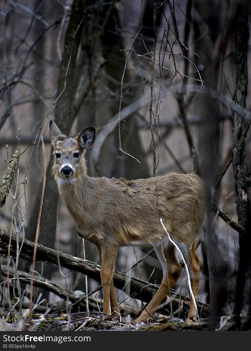
M65 84L65 74L71 57L71 62L68 69L65 91L57 101L55 108L55 122L60 128L62 133L68 134L72 126L75 115L72 114L74 108L75 95L78 87L79 78L76 77L77 70L77 51L82 35L82 25L78 28L83 18L83 4L82 0L74 0L71 9L70 21L68 24L67 32L65 34L65 44L63 58L61 62L57 96L63 91ZM78 28L78 31L76 32ZM75 34L76 32L76 34ZM74 37L75 35L75 37ZM73 39L74 37L74 39ZM41 216L41 226L39 233L39 242L43 245L54 247L55 234L57 227L57 205L58 205L58 190L51 174L51 166L53 164L53 156L51 155L49 165L46 172L46 190L44 193L44 202ZM27 229L26 237L34 240L37 217L40 206L42 184L37 189L36 200L34 209L30 217L29 226ZM48 233L50 232L50 235ZM51 267L45 267L46 276L50 278Z

